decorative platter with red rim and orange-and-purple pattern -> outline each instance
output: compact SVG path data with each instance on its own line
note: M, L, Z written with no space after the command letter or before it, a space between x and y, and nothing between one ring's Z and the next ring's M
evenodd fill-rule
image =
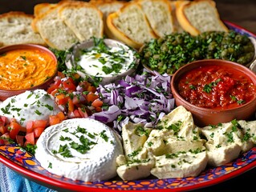
M225 22L230 30L240 34L256 38L256 35L242 29L233 23ZM104 182L73 181L55 174L49 173L40 166L34 156L26 153L18 146L0 146L0 162L12 170L22 174L35 182L56 190L75 191L113 191L113 190L151 190L151 191L184 191L196 190L206 186L212 186L224 182L228 178L234 178L256 166L256 147L242 154L234 162L215 168L207 168L197 177L156 179L148 178L137 181L122 181L114 178Z

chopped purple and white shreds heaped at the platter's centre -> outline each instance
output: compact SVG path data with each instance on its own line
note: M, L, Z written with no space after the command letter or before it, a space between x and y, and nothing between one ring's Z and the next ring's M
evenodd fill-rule
M174 108L170 90L171 77L168 74L136 74L126 76L118 84L100 85L97 89L108 110L92 114L104 123L113 123L116 130L128 122L143 123L154 127L159 120Z

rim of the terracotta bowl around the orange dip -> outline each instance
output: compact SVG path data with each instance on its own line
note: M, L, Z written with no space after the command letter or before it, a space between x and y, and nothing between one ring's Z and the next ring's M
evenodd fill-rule
M43 86L45 84L50 85L51 82L53 81L53 79L55 78L55 76L58 74L58 60L57 60L55 54L45 46L40 46L40 45L37 45L37 44L31 44L31 43L23 43L23 44L14 44L14 45L2 46L2 47L0 47L0 54L6 53L7 51L10 51L10 50L19 49L20 47L23 47L25 49L30 49L30 50L33 50L33 49L42 50L44 53L49 54L55 62L55 66L56 66L55 73L51 76L51 78L48 78L47 81L44 81L44 82L42 82L41 84L39 84L37 86L32 86L32 87L29 87L29 88L18 89L18 90L0 89L0 91L2 93L15 93L15 92L20 93L20 92L24 92L26 90L37 90L37 89L39 89L39 86Z

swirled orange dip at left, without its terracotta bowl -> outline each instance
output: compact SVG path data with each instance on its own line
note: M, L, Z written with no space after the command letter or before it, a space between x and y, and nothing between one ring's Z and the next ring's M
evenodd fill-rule
M23 90L38 86L56 73L51 55L36 49L10 50L0 54L0 89Z

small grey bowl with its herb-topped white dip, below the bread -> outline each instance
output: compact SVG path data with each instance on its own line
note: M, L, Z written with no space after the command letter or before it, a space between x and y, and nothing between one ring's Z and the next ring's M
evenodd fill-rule
M110 38L91 38L76 44L67 54L66 66L82 78L105 85L136 71L136 50ZM98 79L98 80L97 80Z

